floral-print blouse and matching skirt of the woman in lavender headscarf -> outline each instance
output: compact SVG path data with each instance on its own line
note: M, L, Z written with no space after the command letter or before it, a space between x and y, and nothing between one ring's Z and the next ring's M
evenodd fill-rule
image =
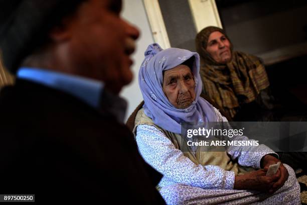
M218 121L227 122L217 109L215 113ZM248 140L245 136L240 138ZM144 160L164 175L159 185L168 204L245 204L263 199L266 201L263 204L298 204L300 201L299 185L293 170L287 165L289 178L274 195L233 190L234 172L225 171L219 166L196 165L154 126L137 126L136 142ZM240 147L232 146L227 149L227 153L232 159L237 159L240 165L256 169L260 168L260 160L264 155L276 154L265 145L250 147L243 152Z

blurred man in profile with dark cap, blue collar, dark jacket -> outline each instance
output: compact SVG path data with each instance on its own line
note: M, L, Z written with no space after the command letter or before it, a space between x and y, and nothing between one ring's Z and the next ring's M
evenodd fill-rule
M139 32L121 1L1 1L0 192L37 202L164 203L122 124Z

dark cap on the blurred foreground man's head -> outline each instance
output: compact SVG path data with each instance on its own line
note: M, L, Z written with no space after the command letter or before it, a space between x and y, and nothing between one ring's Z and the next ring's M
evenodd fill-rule
M21 61L49 29L82 0L0 0L0 49L6 68L15 73Z

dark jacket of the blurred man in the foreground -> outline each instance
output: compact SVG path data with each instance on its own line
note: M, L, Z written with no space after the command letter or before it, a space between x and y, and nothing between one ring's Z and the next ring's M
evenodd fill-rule
M161 174L131 132L107 110L43 85L17 80L0 93L0 193L37 202L164 204Z

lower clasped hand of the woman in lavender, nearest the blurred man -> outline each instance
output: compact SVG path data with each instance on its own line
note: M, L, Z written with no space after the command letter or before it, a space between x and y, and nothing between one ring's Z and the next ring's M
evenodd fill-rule
M234 189L248 189L264 192L275 190L273 185L280 179L280 171L271 176L265 176L267 167L235 177ZM277 189L276 189L277 190Z

